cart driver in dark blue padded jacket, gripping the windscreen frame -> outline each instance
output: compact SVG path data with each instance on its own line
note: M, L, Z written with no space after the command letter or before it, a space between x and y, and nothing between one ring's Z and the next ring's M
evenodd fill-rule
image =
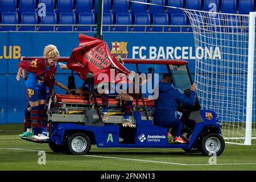
M196 84L191 86L189 96L180 89L175 88L170 74L164 74L159 82L159 97L155 100L154 124L162 127L172 128L175 143L187 143L180 137L183 128L183 113L177 111L177 105L181 102L187 106L195 105Z

